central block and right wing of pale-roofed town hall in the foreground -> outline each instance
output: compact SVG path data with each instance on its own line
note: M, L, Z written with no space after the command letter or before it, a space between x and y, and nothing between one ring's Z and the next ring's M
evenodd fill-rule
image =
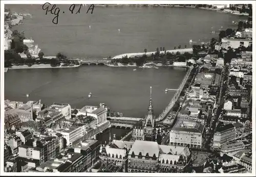
M128 172L184 172L189 171L190 163L187 146L136 140L129 151Z

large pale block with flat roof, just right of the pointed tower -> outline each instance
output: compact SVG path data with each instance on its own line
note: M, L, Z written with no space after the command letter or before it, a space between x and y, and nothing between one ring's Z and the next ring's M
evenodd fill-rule
M204 122L178 119L170 130L170 145L190 145L202 147L205 125Z

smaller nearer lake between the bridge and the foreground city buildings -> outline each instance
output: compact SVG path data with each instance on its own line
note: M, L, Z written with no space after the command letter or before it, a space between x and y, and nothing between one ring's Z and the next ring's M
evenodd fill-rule
M124 116L141 117L147 112L150 86L158 116L172 99L184 68L141 69L133 67L84 66L62 69L18 69L5 73L5 99L39 100L46 104L69 103L73 108L105 103ZM92 92L92 97L88 94ZM29 94L29 98L26 97Z

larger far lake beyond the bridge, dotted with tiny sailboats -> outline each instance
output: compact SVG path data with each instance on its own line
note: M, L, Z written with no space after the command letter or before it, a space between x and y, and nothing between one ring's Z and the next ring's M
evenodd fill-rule
M45 55L62 52L71 58L105 58L144 52L145 48L155 51L157 47L166 50L179 45L189 47L189 39L198 44L207 42L211 37L218 37L221 27L236 28L232 21L247 18L173 7L95 7L93 14L87 14L86 6L80 14L71 14L69 5L57 6L60 12L65 12L59 14L57 25L52 23L54 15L45 15L42 5L7 5L7 8L32 15L14 29L24 30L25 36L32 37Z

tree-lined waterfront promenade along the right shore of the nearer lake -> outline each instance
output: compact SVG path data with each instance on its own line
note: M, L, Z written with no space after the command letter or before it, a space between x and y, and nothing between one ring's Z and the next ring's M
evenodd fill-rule
M169 104L165 107L163 112L156 119L156 122L159 122L159 121L163 120L166 116L168 116L168 113L170 112L170 109L172 109L172 107L174 106L175 102L178 100L178 98L180 96L180 93L183 90L183 87L184 87L185 83L187 82L187 79L188 79L192 69L193 69L193 67L189 67L185 77L183 78L179 88L177 89L177 92L175 93L175 95L172 98L172 100L170 100Z

